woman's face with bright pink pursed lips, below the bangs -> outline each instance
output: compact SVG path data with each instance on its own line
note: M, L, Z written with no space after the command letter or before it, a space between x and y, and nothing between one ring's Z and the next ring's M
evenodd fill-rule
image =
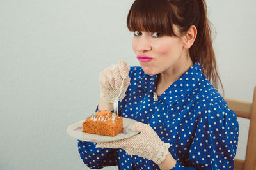
M182 37L161 36L156 32L135 31L132 48L143 71L148 75L177 71L188 57Z

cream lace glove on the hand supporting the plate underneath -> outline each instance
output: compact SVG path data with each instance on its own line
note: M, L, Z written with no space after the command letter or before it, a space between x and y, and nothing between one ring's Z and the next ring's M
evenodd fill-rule
M160 164L165 159L170 143L161 141L156 132L150 125L136 122L132 131L141 131L140 134L131 138L121 139L119 141L97 143L96 147L101 148L122 148L128 155L138 155Z

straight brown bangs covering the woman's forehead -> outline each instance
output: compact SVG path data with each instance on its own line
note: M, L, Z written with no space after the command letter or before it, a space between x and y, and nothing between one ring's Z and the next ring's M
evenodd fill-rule
M136 0L128 13L127 27L133 32L159 32L173 36L173 15L170 13L170 5L165 0Z

